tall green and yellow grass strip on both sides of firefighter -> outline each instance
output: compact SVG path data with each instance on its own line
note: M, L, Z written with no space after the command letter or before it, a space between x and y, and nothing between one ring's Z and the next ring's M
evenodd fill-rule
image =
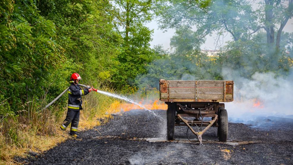
M106 87L101 90L113 92ZM118 107L121 103L97 92L83 96L83 101L84 109L80 114L79 131L100 125L101 121L107 122L112 113L119 112ZM15 156L26 157L31 152L40 153L71 138L68 135L69 130L64 132L59 129L66 116L66 107L33 112L33 120L28 119L26 112L20 112L13 117L6 116L0 120L0 164L18 164L13 160Z

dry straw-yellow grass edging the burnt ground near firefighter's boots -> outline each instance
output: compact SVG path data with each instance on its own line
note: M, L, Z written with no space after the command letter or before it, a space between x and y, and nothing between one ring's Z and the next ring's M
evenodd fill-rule
M97 118L102 118L105 120L105 122L107 122L109 118L112 117L111 114L100 114L95 116ZM100 124L101 123L98 120L88 120L81 111L78 131L92 129L94 126ZM60 123L56 123L55 127L56 132L54 135L37 135L36 131L32 129L19 131L18 138L22 142L21 147L18 147L18 145L3 145L3 147L0 148L0 164L18 164L17 162L13 161L12 158L14 156L26 157L29 156L27 153L30 151L35 153L42 153L43 151L55 147L58 143L64 142L66 139L71 138L71 136L68 135L68 131L59 130ZM0 138L0 143L5 144L4 137L0 135Z

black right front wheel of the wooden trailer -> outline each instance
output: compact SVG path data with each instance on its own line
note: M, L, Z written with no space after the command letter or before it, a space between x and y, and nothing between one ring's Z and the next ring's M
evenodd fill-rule
M226 142L228 137L228 113L224 107L219 107L218 136L220 142Z

